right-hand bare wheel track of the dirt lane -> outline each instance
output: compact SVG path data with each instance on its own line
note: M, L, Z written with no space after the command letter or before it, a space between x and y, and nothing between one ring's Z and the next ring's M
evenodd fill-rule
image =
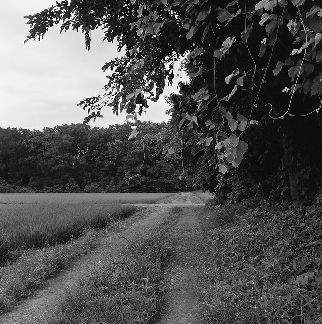
M181 210L182 217L171 233L173 253L163 269L166 300L157 324L204 323L198 304L204 260L203 213L200 207Z

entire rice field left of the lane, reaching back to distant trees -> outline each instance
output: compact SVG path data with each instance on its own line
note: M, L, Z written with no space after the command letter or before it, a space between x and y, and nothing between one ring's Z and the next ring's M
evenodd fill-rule
M42 248L77 238L154 204L171 193L0 194L0 261L12 250Z

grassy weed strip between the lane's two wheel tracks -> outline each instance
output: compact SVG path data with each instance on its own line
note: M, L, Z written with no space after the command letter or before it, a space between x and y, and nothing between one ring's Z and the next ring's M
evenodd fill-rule
M160 267L168 253L169 229L179 212L172 209L157 230L128 240L127 250L108 266L89 272L75 291L67 291L59 312L47 324L154 322L164 296Z

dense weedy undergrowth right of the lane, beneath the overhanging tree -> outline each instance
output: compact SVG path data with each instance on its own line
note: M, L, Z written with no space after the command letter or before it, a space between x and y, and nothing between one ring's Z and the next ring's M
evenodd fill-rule
M322 207L261 205L206 239L205 319L220 324L322 323Z

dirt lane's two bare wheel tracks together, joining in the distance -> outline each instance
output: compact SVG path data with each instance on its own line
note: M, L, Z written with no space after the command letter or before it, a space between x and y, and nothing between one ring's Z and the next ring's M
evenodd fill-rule
M202 207L204 203L193 193L179 193L155 205L138 205L141 211L126 220L122 236L132 239L157 228L170 208L181 207L181 217L171 231L172 250L164 268L165 307L159 324L203 323L198 308L200 293L199 269L201 263ZM42 324L57 309L66 289L75 287L79 280L110 256L117 255L127 242L120 233L109 233L98 238L95 253L86 255L48 280L45 287L33 297L20 302L15 310L0 316L1 324Z

